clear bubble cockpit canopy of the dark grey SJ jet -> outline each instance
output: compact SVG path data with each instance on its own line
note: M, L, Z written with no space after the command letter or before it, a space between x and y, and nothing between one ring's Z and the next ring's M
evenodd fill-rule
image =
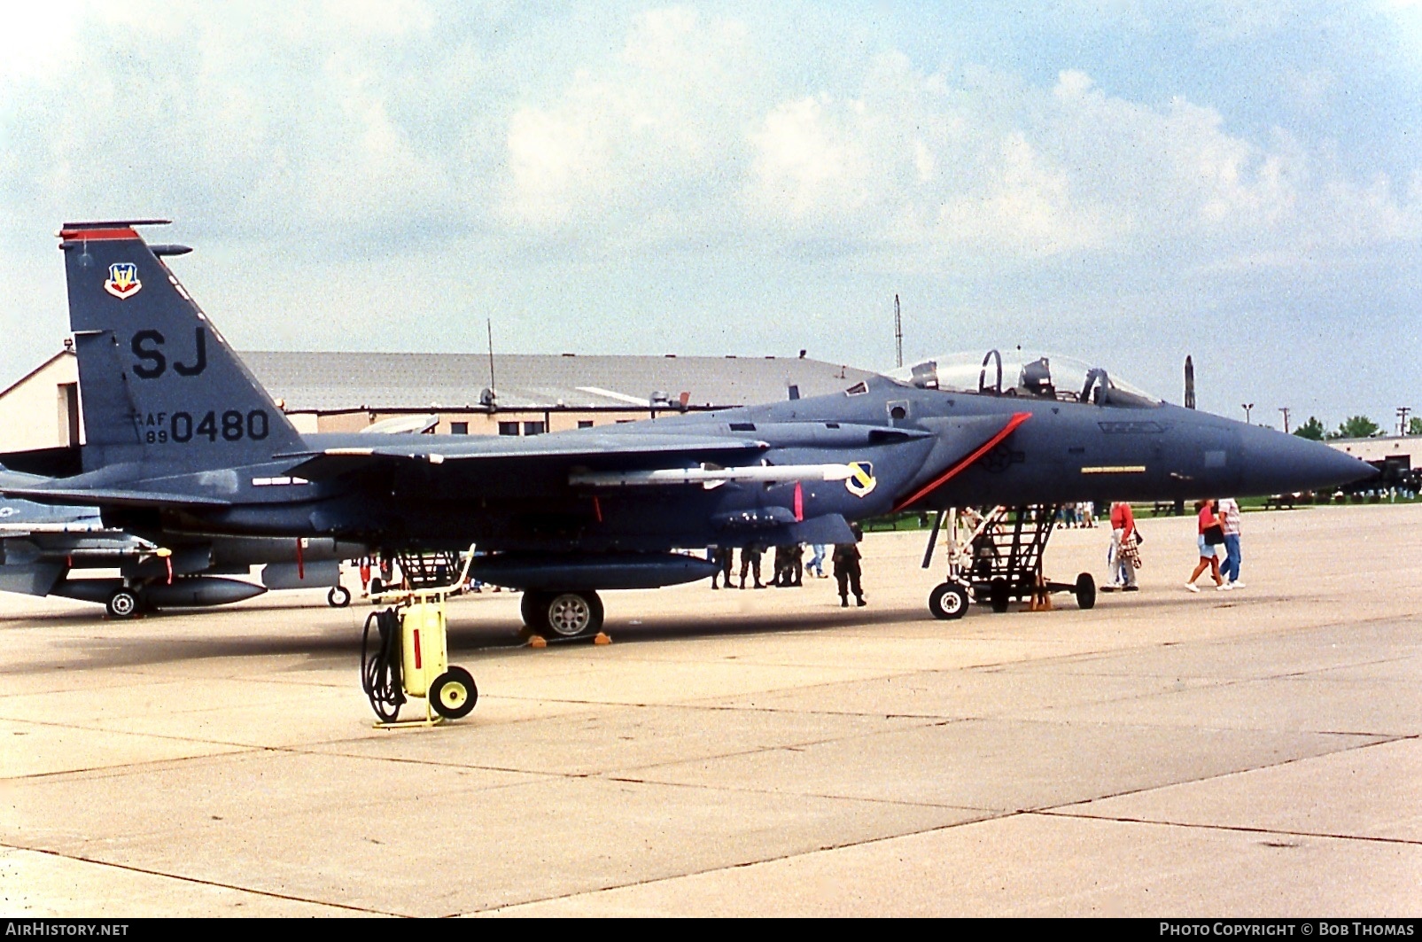
M1024 353L951 353L889 373L889 379L921 390L973 396L1018 396L1064 403L1089 403L1128 408L1160 404L1158 396L1125 383L1074 357Z

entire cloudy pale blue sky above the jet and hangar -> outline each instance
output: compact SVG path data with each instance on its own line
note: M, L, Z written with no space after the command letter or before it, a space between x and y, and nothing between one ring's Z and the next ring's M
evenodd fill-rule
M1094 359L1422 414L1422 3L4 3L0 387L61 222L239 349Z

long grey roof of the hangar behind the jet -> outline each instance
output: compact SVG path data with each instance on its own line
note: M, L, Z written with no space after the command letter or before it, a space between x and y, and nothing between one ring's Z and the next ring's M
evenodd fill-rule
M243 351L287 411L479 408L489 357L476 353ZM646 408L653 394L693 407L745 406L836 393L873 376L802 357L495 354L501 408Z

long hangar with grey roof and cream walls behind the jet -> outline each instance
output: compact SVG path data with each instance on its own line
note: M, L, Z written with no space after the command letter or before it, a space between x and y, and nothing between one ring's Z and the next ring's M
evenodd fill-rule
M872 376L799 357L465 353L284 353L242 359L300 431L358 431L428 416L434 431L536 435L836 393ZM68 344L0 391L0 451L80 444Z

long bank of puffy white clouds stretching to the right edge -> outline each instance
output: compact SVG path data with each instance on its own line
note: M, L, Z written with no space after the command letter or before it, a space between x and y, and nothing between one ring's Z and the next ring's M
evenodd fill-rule
M1268 23L1258 11L1230 28ZM509 218L584 245L607 229L656 242L729 225L839 252L897 246L904 265L1162 250L1176 265L1231 246L1284 250L1301 232L1310 245L1352 245L1415 226L1415 199L1324 175L1287 135L1250 141L1183 97L1129 101L1081 70L1051 88L991 73L954 84L884 54L853 95L776 100L757 84L765 70L751 67L744 36L685 10L646 14L621 60L522 108L509 131ZM737 67L717 67L725 61ZM670 229L657 213L667 201Z

